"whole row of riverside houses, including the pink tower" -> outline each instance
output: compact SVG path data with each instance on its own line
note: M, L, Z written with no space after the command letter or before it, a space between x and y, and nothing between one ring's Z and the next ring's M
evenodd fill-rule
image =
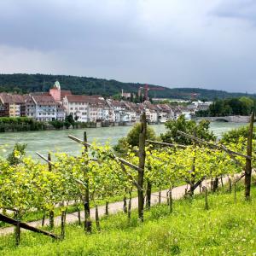
M165 123L177 119L180 114L189 118L188 108L171 107L168 104L140 104L102 96L73 95L70 90L61 90L58 81L49 93L32 93L29 95L0 94L0 116L26 116L38 121L63 120L72 115L80 122L108 121L116 123L137 122L142 111L146 112L148 122Z

